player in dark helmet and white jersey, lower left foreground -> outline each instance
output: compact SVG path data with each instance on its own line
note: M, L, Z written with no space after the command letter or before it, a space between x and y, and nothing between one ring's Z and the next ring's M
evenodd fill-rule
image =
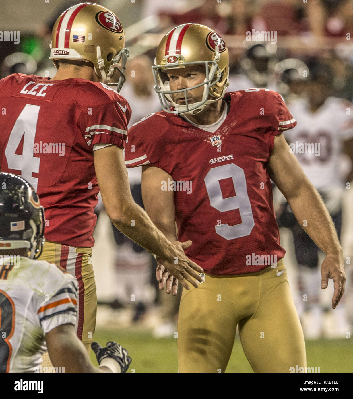
M46 350L63 373L125 373L131 358L120 345L93 343L94 367L77 338L77 280L34 260L45 239L44 209L32 186L2 172L0 187L0 373L38 373Z

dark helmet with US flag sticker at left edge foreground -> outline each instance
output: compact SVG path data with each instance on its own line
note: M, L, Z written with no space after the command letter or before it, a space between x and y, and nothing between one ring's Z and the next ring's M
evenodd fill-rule
M22 177L0 173L0 250L28 248L30 259L43 249L44 208Z

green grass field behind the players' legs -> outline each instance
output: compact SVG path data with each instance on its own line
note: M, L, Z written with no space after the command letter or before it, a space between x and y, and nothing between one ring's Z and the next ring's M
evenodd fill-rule
M112 330L99 328L95 340L101 345L116 340L127 348L132 357L128 373L177 373L177 340L174 338L156 339L149 332ZM346 340L317 340L306 342L308 367L321 367L321 373L353 373L353 343ZM91 352L95 365L97 361ZM252 373L245 358L240 340L235 345L227 373Z

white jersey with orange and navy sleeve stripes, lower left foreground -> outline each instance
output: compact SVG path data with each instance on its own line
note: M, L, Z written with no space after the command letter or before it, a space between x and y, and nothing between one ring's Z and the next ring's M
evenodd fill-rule
M0 263L0 373L39 372L44 336L76 324L77 280L46 261Z

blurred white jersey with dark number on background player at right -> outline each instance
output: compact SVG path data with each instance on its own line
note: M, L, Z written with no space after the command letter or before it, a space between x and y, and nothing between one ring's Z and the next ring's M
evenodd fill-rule
M312 113L307 101L288 105L298 124L284 133L306 176L319 191L342 188L342 142L353 137L351 104L329 97Z

